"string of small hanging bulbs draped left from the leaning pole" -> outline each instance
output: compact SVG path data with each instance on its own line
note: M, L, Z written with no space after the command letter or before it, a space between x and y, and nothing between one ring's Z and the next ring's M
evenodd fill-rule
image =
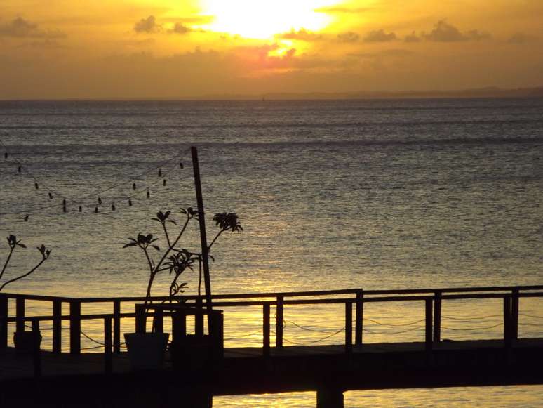
M0 140L1 147L4 148L4 159L5 160L11 160L17 168L17 173L24 173L29 176L29 178L32 178L34 182L34 189L35 190L44 190L47 191L47 196L49 200L53 200L56 197L60 197L62 199L62 206L58 204L58 202L50 202L43 206L34 206L27 209L22 209L20 211L13 211L10 213L0 213L0 216L7 216L7 215L22 215L22 221L28 221L29 220L29 214L34 213L36 211L43 211L47 209L62 209L62 213L83 213L86 209L92 211L93 213L101 213L104 211L104 209L109 209L109 211L116 211L117 206L121 203L126 203L127 206L133 206L134 204L134 198L139 195L140 193L145 193L145 196L147 199L151 197L151 188L152 184L154 183L142 183L142 179L145 179L150 173L156 173L159 179L160 184L163 187L166 187L167 185L167 172L163 172L163 169L168 169L172 166L179 167L180 169L184 169L183 162L181 158L189 152L190 149L183 150L173 159L165 160L164 162L159 163L156 166L153 166L150 169L147 169L143 171L142 173L139 173L138 175L132 176L126 180L123 180L121 183L116 183L114 185L111 185L105 189L101 190L95 190L88 195L84 195L82 197L77 197L76 199L69 199L66 195L62 194L62 192L58 192L57 190L53 189L46 183L43 183L43 180L40 180L38 177L32 173L32 171L29 170L25 164L20 162L18 159L15 158L15 155L12 154L12 152L8 149L8 147ZM156 180L156 179L155 179ZM155 182L156 183L156 182ZM122 194L117 195L114 197L109 197L109 199L104 200L102 197L106 196L107 192L112 192L113 190L121 190L126 189L127 186L131 185L131 193L130 194ZM95 200L95 204L90 204L88 201L92 199Z

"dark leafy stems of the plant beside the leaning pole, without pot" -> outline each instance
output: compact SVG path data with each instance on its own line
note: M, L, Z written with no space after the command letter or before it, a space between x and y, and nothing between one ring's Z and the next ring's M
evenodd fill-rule
M180 276L187 270L194 270L194 263L196 262L199 264L198 293L201 294L201 254L195 254L185 248L177 248L182 235L185 233L185 230L187 230L187 225L189 225L189 222L192 220L198 220L199 213L198 211L192 209L192 207L180 209L180 211L185 215L185 223L183 223L182 228L180 229L180 232L177 233L177 236L175 236L175 239L172 239L173 237L170 235L170 231L168 230L168 224L177 225L175 220L170 218L171 211L159 211L156 213L156 217L152 218L153 221L158 221L161 224L167 244L167 248L164 249L161 256L159 256L159 261L154 261L152 251L150 251L150 249L154 249L158 253L161 252L160 247L154 244L156 241L158 241L158 238L155 238L152 234L145 235L139 233L138 237L136 238L128 238L130 242L123 246L123 248L138 246L138 248L140 248L145 254L147 268L149 269L149 280L147 282L145 303L149 302L154 279L160 272L169 272L169 275L172 277L169 289L170 301L174 296L184 293L185 289L187 289L187 282L179 282ZM228 230L231 230L232 232L243 231L236 213L216 213L213 217L213 221L215 222L215 225L220 228L220 230L217 232L217 235L208 246L208 250L211 249L211 246L213 246L213 244L217 241L217 238L220 237L222 232ZM210 256L210 258L213 260L212 256Z

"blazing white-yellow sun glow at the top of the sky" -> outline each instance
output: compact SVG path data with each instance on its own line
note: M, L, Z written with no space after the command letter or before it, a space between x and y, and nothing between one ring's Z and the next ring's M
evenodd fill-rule
M208 29L239 34L242 37L268 39L291 29L318 31L330 22L316 8L337 1L324 0L203 0L203 13L214 15Z

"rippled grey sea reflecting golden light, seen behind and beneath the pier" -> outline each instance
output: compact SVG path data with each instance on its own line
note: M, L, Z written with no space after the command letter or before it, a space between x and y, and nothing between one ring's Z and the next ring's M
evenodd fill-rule
M215 293L543 283L542 99L0 102L0 141L0 234L29 247L6 274L37 261L35 246L53 249L32 279L8 291L144 295L145 259L122 246L138 232L163 246L156 211L182 221L180 207L196 206L192 145L208 235L215 212L236 211L244 228L213 246ZM189 225L182 245L197 251L196 234ZM197 274L185 281L194 294ZM167 287L166 276L153 294ZM521 336L543 336L542 306L521 303ZM445 303L443 337L500 337L501 307ZM422 313L408 303L371 305L366 341L420 340ZM227 346L260 344L259 308L225 318ZM287 341L341 342L333 336L340 308L293 307L285 318ZM83 329L100 336L100 322ZM346 393L347 407L542 400L543 387ZM314 403L313 393L214 400L217 407Z

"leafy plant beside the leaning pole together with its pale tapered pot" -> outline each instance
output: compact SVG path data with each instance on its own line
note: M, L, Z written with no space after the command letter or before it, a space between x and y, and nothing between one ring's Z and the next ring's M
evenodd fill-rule
M170 217L170 211L159 211L156 213L156 217L152 218L161 224L161 230L166 240L166 249L163 249L163 251L161 251L157 244L159 239L152 234L139 233L135 238L128 238L129 242L123 246L123 248L138 247L145 255L145 265L149 272L145 293L146 305L152 302L152 287L156 277L163 273L168 273L171 278L168 293L170 302L182 302L183 299L178 295L185 292L187 282L180 282L180 277L187 270L194 270L196 263L199 265L198 291L199 294L201 293L201 254L195 254L180 246L180 240L187 230L187 226L192 221L198 220L199 213L192 209L192 207L181 209L180 211L185 221L176 235L172 235L170 228L168 228L170 225L177 225L177 222ZM215 221L220 230L208 246L208 249L213 246L222 232L227 230L232 230L232 232L243 230L236 213L217 213L213 217L213 221ZM158 261L155 261L155 259ZM161 367L169 334L156 333L154 328L155 325L153 324L151 333L127 333L124 335L128 355L134 369L158 369Z

